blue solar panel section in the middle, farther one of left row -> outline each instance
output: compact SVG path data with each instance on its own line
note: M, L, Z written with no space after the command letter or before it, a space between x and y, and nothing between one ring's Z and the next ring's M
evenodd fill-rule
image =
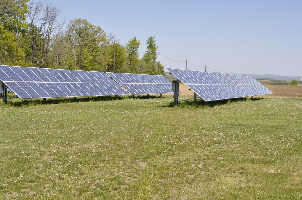
M107 73L132 95L173 93L172 83L162 75Z

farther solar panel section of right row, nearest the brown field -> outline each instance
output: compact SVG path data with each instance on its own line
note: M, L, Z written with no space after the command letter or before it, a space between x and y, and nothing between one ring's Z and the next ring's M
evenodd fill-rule
M251 96L273 94L271 90L262 85L254 77L241 76L235 74L225 74L238 86L248 92Z

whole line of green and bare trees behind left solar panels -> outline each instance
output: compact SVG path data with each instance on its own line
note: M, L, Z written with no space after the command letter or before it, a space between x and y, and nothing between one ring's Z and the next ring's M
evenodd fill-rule
M70 70L157 74L156 39L146 41L140 58L136 37L121 45L113 33L86 19L59 20L51 3L0 0L0 64ZM115 42L117 41L117 42ZM159 73L164 75L163 65Z

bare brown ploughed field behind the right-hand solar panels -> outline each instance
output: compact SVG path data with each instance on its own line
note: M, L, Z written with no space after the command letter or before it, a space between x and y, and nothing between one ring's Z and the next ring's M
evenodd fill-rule
M302 98L302 86L265 85L265 87L267 87L272 92L274 92L274 94L261 95L262 97ZM193 97L194 95L194 92L189 90L189 88L185 84L179 84L179 89L182 91L182 93L179 93L180 96L191 95ZM173 94L165 94L165 95L173 95ZM256 96L256 97L260 97L260 96Z

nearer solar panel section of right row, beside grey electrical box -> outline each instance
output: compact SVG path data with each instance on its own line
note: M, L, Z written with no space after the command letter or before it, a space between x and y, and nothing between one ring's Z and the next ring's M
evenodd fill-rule
M223 73L201 72L167 68L204 101L250 96Z

